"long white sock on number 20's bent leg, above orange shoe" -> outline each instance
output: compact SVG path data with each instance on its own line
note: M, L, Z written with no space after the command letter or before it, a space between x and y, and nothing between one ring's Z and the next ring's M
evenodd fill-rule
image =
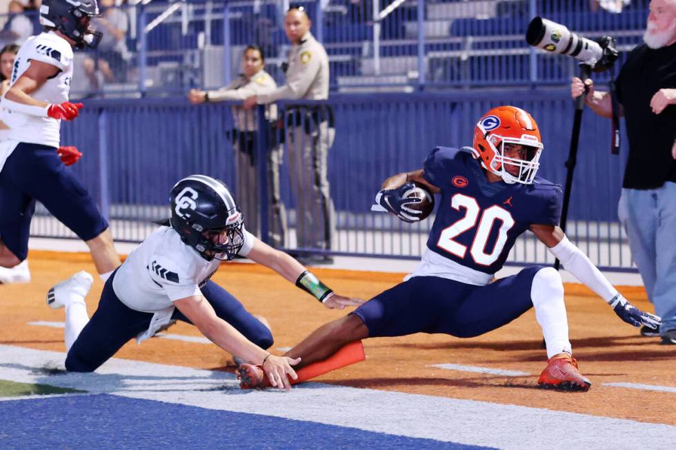
M563 353L573 354L568 340L568 316L564 303L564 285L561 275L553 267L541 269L533 277L530 298L535 307L535 318L542 327L547 345L547 358Z

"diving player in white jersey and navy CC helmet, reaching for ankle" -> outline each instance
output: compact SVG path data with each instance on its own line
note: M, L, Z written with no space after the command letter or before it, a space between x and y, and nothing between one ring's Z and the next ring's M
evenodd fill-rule
M170 320L194 324L204 336L241 360L265 367L270 385L290 387L299 358L274 356L270 330L219 287L211 276L221 260L247 256L315 296L325 307L363 303L335 294L297 260L246 231L230 190L204 175L179 181L171 191L171 218L150 234L108 278L90 319L85 296L92 285L79 272L50 289L47 303L66 307L66 369L94 371L132 338L142 342Z

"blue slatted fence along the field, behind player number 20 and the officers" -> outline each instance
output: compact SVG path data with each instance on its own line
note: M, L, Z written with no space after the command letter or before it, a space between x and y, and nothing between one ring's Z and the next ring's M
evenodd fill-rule
M335 113L335 143L329 152L328 178L338 225L328 253L417 258L432 219L411 225L370 212L375 193L384 178L421 167L433 147L471 145L477 118L501 103L533 113L546 146L539 174L562 183L573 116L566 90L332 96L328 105ZM284 117L288 105L279 108ZM585 116L567 231L599 267L630 269L626 238L616 216L623 163L610 155L607 122L593 114ZM232 125L227 103L88 101L77 121L63 126L62 143L83 150L85 156L72 170L99 199L114 237L141 241L153 229L152 221L168 214L168 192L179 178L203 173L237 186L227 133ZM321 252L297 245L297 198L288 174L288 143L284 145L281 198L289 212L289 232L283 247ZM241 199L261 192L235 195ZM34 219L31 233L72 237L46 214ZM528 233L517 241L509 261L546 263L552 258Z

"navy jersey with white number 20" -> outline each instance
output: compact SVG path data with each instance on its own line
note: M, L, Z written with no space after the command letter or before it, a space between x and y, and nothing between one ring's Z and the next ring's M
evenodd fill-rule
M424 164L425 179L441 189L427 247L470 269L495 274L516 238L530 225L558 225L561 187L536 177L532 185L501 183L497 192L469 152L437 147ZM481 186L484 185L484 190Z

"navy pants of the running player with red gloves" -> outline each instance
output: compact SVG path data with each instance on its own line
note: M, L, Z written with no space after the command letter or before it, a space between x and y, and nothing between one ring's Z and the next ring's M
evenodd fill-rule
M19 143L0 172L0 239L20 260L28 256L35 201L83 241L108 228L94 199L61 163L57 149Z

